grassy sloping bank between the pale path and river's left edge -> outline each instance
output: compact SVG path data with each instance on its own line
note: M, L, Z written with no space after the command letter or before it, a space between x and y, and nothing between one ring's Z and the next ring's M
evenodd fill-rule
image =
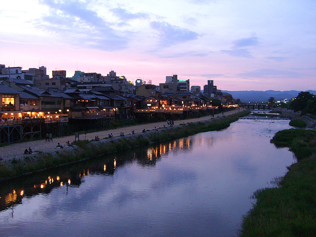
M124 137L103 138L100 141L80 140L74 147L65 147L53 153L38 153L34 156L24 156L12 159L0 166L0 180L6 180L25 174L46 170L60 165L78 162L101 155L107 155L133 147L151 143L190 136L198 132L220 130L226 128L239 117L248 115L249 111L234 115L212 118L205 121L190 122L175 127L160 128L145 133L126 135Z

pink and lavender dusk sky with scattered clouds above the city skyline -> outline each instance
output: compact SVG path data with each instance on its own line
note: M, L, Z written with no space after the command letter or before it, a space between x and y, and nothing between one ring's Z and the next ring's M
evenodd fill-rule
M10 0L0 64L222 90L316 89L316 0Z

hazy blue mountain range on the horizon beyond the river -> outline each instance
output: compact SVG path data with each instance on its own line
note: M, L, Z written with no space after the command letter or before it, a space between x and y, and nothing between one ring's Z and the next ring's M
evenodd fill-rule
M316 90L307 90L311 94L316 94ZM300 90L240 90L240 91L229 91L222 90L222 92L227 92L233 96L234 99L240 99L241 102L268 102L270 97L274 97L275 100L284 100L294 98L300 93Z

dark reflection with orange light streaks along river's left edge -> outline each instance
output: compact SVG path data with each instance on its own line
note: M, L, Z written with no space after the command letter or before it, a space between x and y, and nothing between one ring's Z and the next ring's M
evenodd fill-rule
M198 138L195 145L211 139ZM22 179L13 179L10 182L0 184L0 210L13 204L22 203L23 197L32 197L38 194L48 194L51 190L64 185L80 186L84 177L90 174L114 175L117 168L125 164L137 161L143 167L155 166L161 155L169 152L178 153L189 150L192 146L191 138L182 138L167 143L156 144L147 149L134 149L118 155L110 155L105 158L91 159L71 166L55 169L41 174L25 176Z

